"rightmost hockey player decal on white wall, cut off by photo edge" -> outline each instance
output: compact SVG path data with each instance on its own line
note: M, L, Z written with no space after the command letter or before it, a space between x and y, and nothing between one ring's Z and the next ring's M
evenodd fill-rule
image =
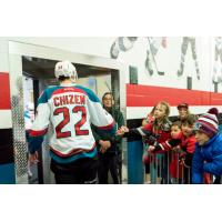
M214 38L214 65L213 65L213 83L222 82L222 37Z

